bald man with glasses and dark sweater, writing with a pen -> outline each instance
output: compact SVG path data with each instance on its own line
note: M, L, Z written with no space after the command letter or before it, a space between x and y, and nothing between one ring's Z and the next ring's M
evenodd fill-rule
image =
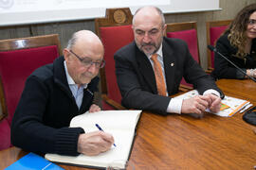
M27 151L63 155L97 155L114 143L113 136L82 127L69 127L70 120L86 110L101 110L92 104L104 66L103 45L91 31L73 34L64 57L34 71L14 113L11 143Z

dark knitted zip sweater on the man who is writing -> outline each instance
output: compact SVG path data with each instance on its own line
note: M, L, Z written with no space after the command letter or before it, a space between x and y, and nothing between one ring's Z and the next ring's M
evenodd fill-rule
M92 105L99 77L83 91L79 110L66 80L64 58L35 70L27 77L24 92L14 113L11 143L27 151L78 155L81 127L69 127L71 119ZM88 90L90 92L88 92Z

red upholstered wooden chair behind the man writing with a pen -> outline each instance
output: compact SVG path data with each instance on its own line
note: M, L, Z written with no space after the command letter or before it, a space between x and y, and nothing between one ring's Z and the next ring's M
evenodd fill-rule
M0 41L0 150L11 145L11 120L27 76L56 59L60 49L57 34Z

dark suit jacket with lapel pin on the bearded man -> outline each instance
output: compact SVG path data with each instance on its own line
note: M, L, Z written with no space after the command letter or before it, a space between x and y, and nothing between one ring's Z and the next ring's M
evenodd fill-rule
M169 95L178 92L182 76L192 83L199 93L208 89L221 93L214 80L192 59L186 42L164 38L162 51ZM114 59L122 105L167 114L171 98L157 94L153 67L147 56L137 48L136 43L132 42L119 49Z

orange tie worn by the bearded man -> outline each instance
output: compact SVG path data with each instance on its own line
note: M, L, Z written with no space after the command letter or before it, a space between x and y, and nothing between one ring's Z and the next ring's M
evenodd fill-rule
M154 62L155 81L157 86L157 92L159 95L166 96L166 86L162 73L162 67L157 59L157 54L152 55L151 59Z

